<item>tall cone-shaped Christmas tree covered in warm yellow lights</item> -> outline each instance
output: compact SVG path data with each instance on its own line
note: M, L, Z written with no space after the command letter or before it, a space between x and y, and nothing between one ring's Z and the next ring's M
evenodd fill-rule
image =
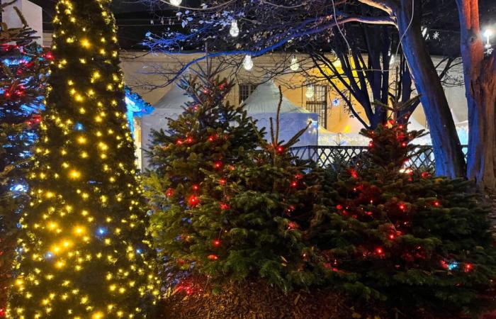
M145 318L158 294L111 0L60 0L9 318Z

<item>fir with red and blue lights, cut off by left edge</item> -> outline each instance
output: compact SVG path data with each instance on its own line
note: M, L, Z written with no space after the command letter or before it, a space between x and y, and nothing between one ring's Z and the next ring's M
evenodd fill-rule
M1 4L0 11L8 5ZM38 109L50 60L50 54L33 42L35 31L14 9L23 26L2 25L0 35L0 317L11 284L17 223L28 201L24 173L40 122Z

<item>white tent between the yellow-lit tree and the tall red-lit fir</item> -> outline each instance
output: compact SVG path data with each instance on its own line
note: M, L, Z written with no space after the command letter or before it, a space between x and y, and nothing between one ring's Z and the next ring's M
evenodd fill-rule
M152 142L152 130L169 127L169 118L178 118L184 112L186 103L192 101L185 95L185 91L176 84L172 84L171 89L162 96L155 105L154 111L149 116L144 116L141 123L142 148L147 150ZM147 155L143 154L143 167L147 167Z

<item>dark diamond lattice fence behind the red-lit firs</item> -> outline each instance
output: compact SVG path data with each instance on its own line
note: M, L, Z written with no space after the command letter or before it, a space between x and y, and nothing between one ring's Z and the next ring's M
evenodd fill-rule
M303 146L291 148L291 153L300 159L312 159L321 167L339 167L339 165L356 166L363 152L367 151L365 146ZM416 155L410 159L409 166L412 169L434 170L434 151L432 146L418 146ZM467 147L463 146L466 155Z

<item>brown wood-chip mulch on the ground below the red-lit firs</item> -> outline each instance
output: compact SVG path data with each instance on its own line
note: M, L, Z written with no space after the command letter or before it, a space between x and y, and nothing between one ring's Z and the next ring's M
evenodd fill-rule
M258 282L232 285L212 293L204 279L179 285L159 306L157 319L461 319L424 310L403 313L376 304L352 301L331 289L283 293ZM483 319L496 319L487 316Z

